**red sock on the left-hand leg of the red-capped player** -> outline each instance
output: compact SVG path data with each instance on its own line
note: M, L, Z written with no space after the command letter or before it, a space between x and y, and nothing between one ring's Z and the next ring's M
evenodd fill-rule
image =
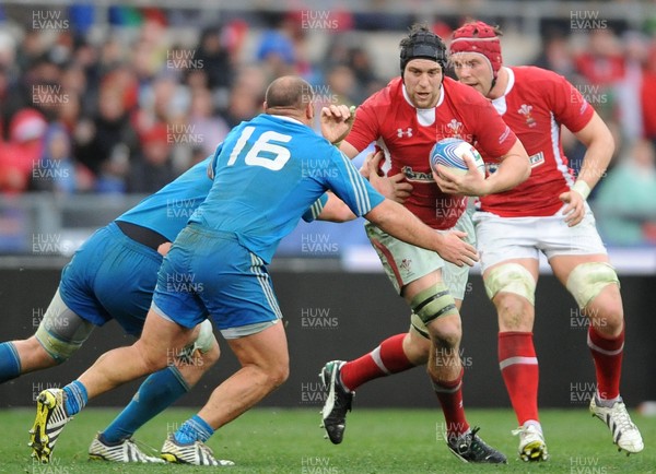
M540 369L532 332L499 333L499 367L519 426L539 422L538 382Z

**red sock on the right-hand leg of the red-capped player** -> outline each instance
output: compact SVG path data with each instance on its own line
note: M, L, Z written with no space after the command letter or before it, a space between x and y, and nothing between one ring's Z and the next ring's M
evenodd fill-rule
M599 398L602 400L617 399L620 396L624 329L616 339L605 339L590 325L588 329L588 347L595 360Z

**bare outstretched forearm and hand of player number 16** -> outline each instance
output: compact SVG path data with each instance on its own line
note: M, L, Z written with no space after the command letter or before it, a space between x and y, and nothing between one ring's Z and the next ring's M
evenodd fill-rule
M473 265L478 261L476 249L462 240L466 233L440 234L422 223L414 214L398 202L386 199L364 217L393 237L408 244L433 250L444 260L458 266Z

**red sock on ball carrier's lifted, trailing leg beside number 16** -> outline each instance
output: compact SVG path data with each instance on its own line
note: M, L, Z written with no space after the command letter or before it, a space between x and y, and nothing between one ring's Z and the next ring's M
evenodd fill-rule
M371 353L344 364L340 370L342 384L353 391L370 380L402 372L414 367L414 364L408 360L403 352L406 334L393 335L383 341Z

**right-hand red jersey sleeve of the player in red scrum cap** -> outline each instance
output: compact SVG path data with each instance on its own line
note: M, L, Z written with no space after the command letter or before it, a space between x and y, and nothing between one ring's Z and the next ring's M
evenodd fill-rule
M551 71L544 74L549 79L544 91L555 121L573 133L581 131L593 119L595 109L565 78Z

